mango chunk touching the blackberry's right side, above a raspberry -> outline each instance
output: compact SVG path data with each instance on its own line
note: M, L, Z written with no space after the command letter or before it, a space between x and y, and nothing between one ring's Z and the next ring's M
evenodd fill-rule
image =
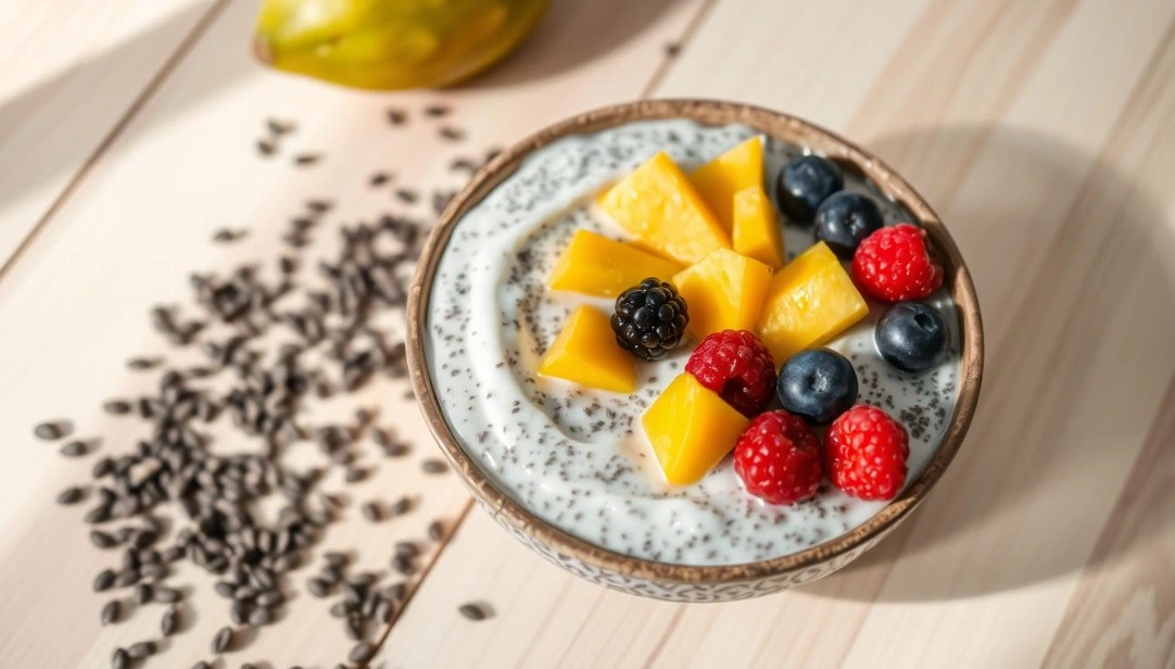
M770 267L725 248L673 275L673 286L690 313L685 329L697 339L719 330L751 329L770 285Z

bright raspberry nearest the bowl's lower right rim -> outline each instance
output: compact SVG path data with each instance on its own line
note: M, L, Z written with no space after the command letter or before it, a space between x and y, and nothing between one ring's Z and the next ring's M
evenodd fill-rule
M853 497L892 500L906 482L906 428L877 407L857 404L841 414L824 448L832 484Z

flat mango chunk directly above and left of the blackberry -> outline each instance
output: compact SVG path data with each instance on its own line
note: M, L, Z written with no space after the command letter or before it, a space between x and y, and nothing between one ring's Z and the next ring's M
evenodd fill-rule
M578 229L551 270L552 290L573 290L616 297L650 276L669 281L682 269L676 262L631 243Z

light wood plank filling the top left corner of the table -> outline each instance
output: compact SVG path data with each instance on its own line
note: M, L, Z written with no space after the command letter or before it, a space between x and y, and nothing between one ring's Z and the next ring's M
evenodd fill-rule
M0 7L0 268L216 5L9 0Z

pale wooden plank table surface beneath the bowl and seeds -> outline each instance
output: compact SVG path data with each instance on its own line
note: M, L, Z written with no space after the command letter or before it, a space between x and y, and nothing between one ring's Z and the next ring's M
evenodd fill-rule
M134 429L101 402L148 383L125 360L166 350L145 312L182 299L190 270L273 259L307 198L340 202L331 221L403 208L368 187L376 170L459 186L455 155L610 102L706 96L853 138L941 214L988 342L960 455L859 563L731 604L577 581L471 509L451 474L381 467L351 499L407 490L421 508L374 524L352 503L316 554L351 547L385 570L432 517L459 524L372 665L1175 667L1175 2L557 0L469 86L387 94L260 67L254 12L0 7L0 664L106 667L157 634L155 610L99 624L107 597L90 580L112 558L89 546L81 508L53 503L95 456L63 459L31 428L67 416L103 454L130 448ZM454 108L463 142L418 120L434 102ZM391 127L390 107L414 121ZM297 131L262 160L270 116ZM322 161L297 168L298 152ZM224 226L249 236L212 243ZM396 402L418 463L434 447ZM179 576L189 629L148 667L204 657L227 618L206 575ZM458 616L466 601L492 618ZM298 595L219 665L334 667L351 642L327 607Z

